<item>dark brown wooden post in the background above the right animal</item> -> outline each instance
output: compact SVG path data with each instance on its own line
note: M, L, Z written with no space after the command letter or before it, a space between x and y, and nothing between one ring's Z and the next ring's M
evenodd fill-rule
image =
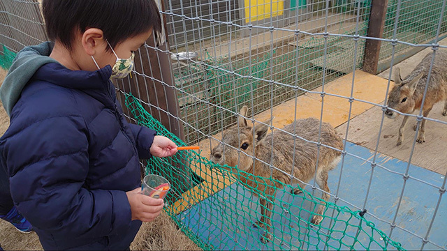
M372 0L371 14L369 15L369 25L367 36L371 38L382 38L383 26L385 24L386 9L388 0ZM367 73L377 74L379 63L380 40L367 39L365 43L365 56L363 59L363 70Z

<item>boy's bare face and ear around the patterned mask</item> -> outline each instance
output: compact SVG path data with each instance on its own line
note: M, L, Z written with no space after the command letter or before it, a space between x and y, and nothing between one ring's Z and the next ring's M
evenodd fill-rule
M113 67L117 61L117 57L113 54L112 50L107 50L109 45L103 38L102 31L99 29L94 30L96 30L94 31L96 33L100 31L101 34L96 35L96 33L94 33L94 35L89 35L88 38L85 38L86 33L93 32L91 29L88 29L85 34L80 34L80 41L84 40L86 42L78 43L77 48L74 50L74 54L72 54L72 58L78 65L79 70L98 70L98 67L96 67L93 59L91 59L91 56L94 56L99 68L103 68L107 65ZM149 36L151 36L151 34L152 29L145 33L140 33L137 36L126 39L112 49L115 51L119 59L129 59L132 52L137 51L138 48L144 45L145 41L149 38Z

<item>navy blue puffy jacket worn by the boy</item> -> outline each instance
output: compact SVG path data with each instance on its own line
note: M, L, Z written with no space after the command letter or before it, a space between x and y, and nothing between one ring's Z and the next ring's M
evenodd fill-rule
M0 139L15 205L45 249L122 250L140 228L125 192L140 187L155 132L124 119L110 75L41 66Z

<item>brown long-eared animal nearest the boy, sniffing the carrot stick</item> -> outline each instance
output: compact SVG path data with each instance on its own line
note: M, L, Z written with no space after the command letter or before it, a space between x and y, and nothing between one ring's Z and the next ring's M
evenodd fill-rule
M240 109L239 126L224 133L222 143L212 149L210 159L219 165L237 166L237 169L231 169L232 172L240 174L241 183L258 195L262 217L254 224L254 227L265 226L266 231L261 241L266 243L272 239L270 217L276 195L274 188L283 188L282 183L304 188L305 185L302 182L307 183L314 178L316 171L316 183L324 190L322 199L327 201L330 193L328 172L337 166L341 155L341 151L327 146L342 150L343 144L335 129L329 123L322 123L320 141L326 146L320 148L318 169L316 169L318 155L316 143L306 142L292 135L318 142L320 128L318 119L299 119L284 127L283 130L292 135L282 131L268 134L269 126L265 124L269 124L270 121L252 127L244 119L247 117L247 111L246 106ZM265 163L271 163L272 167ZM264 178L258 178L258 176ZM300 188L293 189L293 193L297 195L302 192ZM318 225L323 220L324 208L323 204L318 206L312 218L312 224Z

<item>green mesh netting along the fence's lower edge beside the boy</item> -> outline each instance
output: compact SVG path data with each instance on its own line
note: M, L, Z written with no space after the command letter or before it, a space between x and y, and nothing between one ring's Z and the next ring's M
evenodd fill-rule
M156 121L136 98L126 96L126 106L142 126L184 146L178 137ZM166 197L166 212L184 234L204 250L404 250L390 240L360 211L328 202L320 225L310 224L316 207L325 203L302 190L292 195L289 185L284 189L269 185L278 183L270 178L253 176L237 168L214 165L195 151L180 151L170 158L147 161L147 173L168 178L172 190ZM274 240L260 241L263 229L252 224L261 218L260 204L251 192L263 195L256 188L245 188L241 177L277 189L272 210ZM360 216L362 215L362 216Z

